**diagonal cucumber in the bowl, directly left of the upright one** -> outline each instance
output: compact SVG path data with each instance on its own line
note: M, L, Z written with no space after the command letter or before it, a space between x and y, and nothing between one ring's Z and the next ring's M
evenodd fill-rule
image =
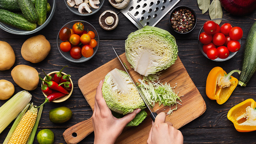
M21 9L24 16L30 22L36 22L38 19L37 12L31 0L17 0L19 8Z

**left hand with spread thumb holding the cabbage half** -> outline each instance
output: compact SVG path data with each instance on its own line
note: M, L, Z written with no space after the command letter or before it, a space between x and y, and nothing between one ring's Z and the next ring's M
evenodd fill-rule
M102 97L102 85L103 82L99 82L92 116L94 144L113 144L127 123L133 120L141 109L135 109L123 118L115 118L107 106L105 99Z

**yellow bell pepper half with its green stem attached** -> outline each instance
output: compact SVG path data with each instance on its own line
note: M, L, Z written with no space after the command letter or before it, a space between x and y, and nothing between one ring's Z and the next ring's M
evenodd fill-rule
M206 80L207 97L215 99L219 105L226 102L238 84L238 80L231 76L235 72L241 73L240 70L233 70L227 74L221 67L214 67Z

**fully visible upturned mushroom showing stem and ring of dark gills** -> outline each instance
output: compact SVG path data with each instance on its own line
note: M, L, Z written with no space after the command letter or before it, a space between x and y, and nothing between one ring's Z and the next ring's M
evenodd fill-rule
M114 11L106 10L99 16L99 25L104 30L113 30L117 27L118 16Z

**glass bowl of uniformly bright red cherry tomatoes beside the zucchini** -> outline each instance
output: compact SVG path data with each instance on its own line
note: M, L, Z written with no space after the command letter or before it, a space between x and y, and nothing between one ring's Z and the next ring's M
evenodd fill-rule
M218 25L215 22L221 20ZM198 34L198 47L202 54L213 61L226 61L240 49L243 30L223 18L204 23Z

